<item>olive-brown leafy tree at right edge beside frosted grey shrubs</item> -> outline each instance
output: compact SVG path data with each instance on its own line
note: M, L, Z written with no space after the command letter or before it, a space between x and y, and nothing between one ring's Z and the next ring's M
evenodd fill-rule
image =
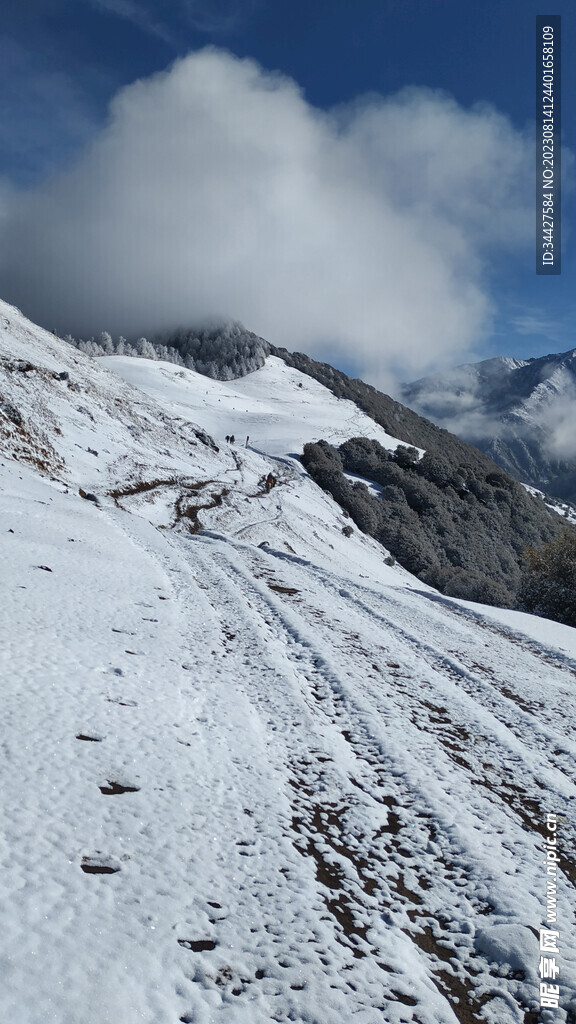
M576 529L524 553L519 607L567 626L576 626Z

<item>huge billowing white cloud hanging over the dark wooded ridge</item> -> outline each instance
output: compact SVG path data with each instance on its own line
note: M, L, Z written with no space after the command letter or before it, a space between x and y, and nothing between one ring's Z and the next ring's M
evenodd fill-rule
M410 379L489 330L485 261L531 237L528 152L488 108L409 89L325 114L206 49L123 89L82 160L11 204L0 285L50 328L229 315Z

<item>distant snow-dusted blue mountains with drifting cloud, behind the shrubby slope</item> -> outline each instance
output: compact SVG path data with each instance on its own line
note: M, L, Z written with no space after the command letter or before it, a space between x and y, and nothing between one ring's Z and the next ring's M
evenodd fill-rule
M405 384L402 400L517 479L576 501L576 349L456 367Z

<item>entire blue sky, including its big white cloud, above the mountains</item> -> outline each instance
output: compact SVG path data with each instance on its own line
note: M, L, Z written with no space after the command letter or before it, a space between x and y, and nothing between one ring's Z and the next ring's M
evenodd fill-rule
M3 296L46 326L50 317L57 321L58 330L67 326L74 333L89 330L90 326L92 331L110 328L113 333L116 328L123 332L147 329L145 312L141 324L137 316L123 319L121 296L110 297L106 268L101 272L97 269L106 261L98 249L101 239L98 241L93 227L96 213L87 211L87 207L100 188L106 168L114 166L114 180L120 182L118 195L112 195L108 182L106 197L96 196L93 208L104 211L100 225L110 225L110 250L122 250L123 239L137 234L138 253L154 251L157 259L151 267L150 261L138 263L131 251L123 254L122 266L130 264L125 292L128 306L137 301L138 288L150 294L157 282L159 291L167 296L166 303L173 293L173 308L180 321L197 310L201 314L239 316L248 327L260 333L268 331L273 341L308 350L380 383L386 378L386 364L392 367L392 377L415 377L420 368L426 372L435 368L435 355L437 365L442 365L493 354L527 357L572 347L576 300L574 170L570 156L576 148L576 30L573 3L567 0L554 4L552 11L563 15L567 147L563 274L541 278L534 272L534 22L536 13L545 12L532 0L315 0L314 4L310 0L4 0L0 42L0 223L8 227L0 243ZM206 46L217 48L213 59L186 63L191 54L201 53ZM234 57L249 58L254 62L250 67L259 69L258 74L239 73L239 68L248 66L239 65ZM152 78L169 69L176 58L183 58L186 75L181 72L167 81ZM284 76L279 80L281 86L270 77L273 72ZM139 92L122 92L136 80L146 83ZM406 93L407 87L413 91ZM202 103L197 97L194 111L189 106L184 114L182 108L177 117L174 115L172 135L164 133L158 119L172 123L171 111L178 108L179 92L198 92L199 88ZM276 113L262 113L266 96L273 92ZM398 99L399 95L403 98ZM242 105L235 108L239 96ZM116 104L112 115L111 102ZM209 116L205 116L208 106ZM246 113L244 123L244 112L252 108L253 118ZM328 112L329 123L323 121ZM145 124L147 118L150 128ZM218 132L236 131L239 120L244 138L253 136L251 156L239 150L238 139L232 145L223 134L216 138ZM281 138L269 151L265 139L262 141L262 125L269 124L271 136L277 129L281 135L280 126L285 124L285 164L291 168L291 176L279 169ZM141 135L135 125L140 125ZM158 144L171 153L171 139L181 138L188 125L202 158L196 159L193 138L190 151L178 151L172 160L174 166L178 161L189 163L189 187L196 196L203 193L205 180L219 182L202 200L205 215L199 213L199 206L189 206L183 193L180 196L186 182L181 175L174 177L169 159L155 164L157 154L153 153L149 160L142 150L138 169L137 162L132 163L126 155L129 146L139 152L141 137L153 131ZM428 126L430 137L425 139L422 156L422 139ZM264 136L266 132L264 127ZM124 139L124 148L119 142L116 145L119 136ZM297 161L291 153L292 137ZM471 146L474 151L477 144L478 174L470 166L474 161L466 159L466 148ZM511 151L509 160L507 147ZM210 159L205 156L209 151ZM86 152L95 155L86 158ZM331 177L332 153L339 167L337 180ZM238 161L244 167L244 179ZM383 178L387 173L385 188L373 180L379 161ZM199 163L203 164L202 179L195 176L200 173L195 170ZM154 184L150 164L154 164ZM260 177L262 164L274 164L272 176ZM221 171L222 165L234 165L228 176ZM438 175L429 190L431 172L426 170L424 177L423 165ZM505 186L499 188L498 179L504 177ZM304 179L312 178L315 183L308 187ZM259 189L259 199L252 197L253 206L252 199L246 200L251 180L257 181ZM159 182L161 195L154 190L160 187ZM327 182L326 189L320 187L323 182ZM365 209L360 195L365 182L372 212ZM219 219L218 187L228 211L225 221ZM231 199L235 193L240 197L236 207ZM114 223L122 223L122 197L128 194L132 219L128 216L118 227L122 233L116 238ZM179 243L172 246L167 237L162 241L163 221L151 222L148 236L140 233L139 224L134 227L138 196L146 219L145 211L168 203L170 195L178 197L178 210L183 211L181 217L188 218L188 241L181 241L181 248ZM278 220L278 210L271 213L264 209L271 204L270 195L280 196L280 205L286 206L284 220ZM332 205L326 206L317 222L315 211L327 203L327 195L332 197ZM338 195L343 197L343 222L334 225ZM478 209L472 209L477 200ZM239 219L240 203L248 212ZM297 230L293 226L296 208L307 211L305 218L302 213ZM406 230L395 219L399 211L407 218ZM170 209L168 219L172 215ZM378 217L382 248L388 237L394 241L392 253L382 256L381 265L377 238L370 231L370 221L375 223ZM234 239L249 232L250 224L259 223L260 218L257 254L239 246L235 266L231 255ZM154 217L148 219L153 221ZM357 230L361 221L362 231ZM308 236L306 223L314 227ZM421 227L425 237L416 238L422 233ZM225 259L214 248L218 232L225 242L221 247ZM72 272L79 260L78 251L72 247L67 259L61 257L61 265L57 262L67 239L73 236L84 236L95 269L88 261L82 280L76 282L73 278L68 291L63 286L59 292L54 267L58 268L61 284L69 267ZM191 255L193 237L196 257ZM321 237L326 240L325 249L319 246ZM282 246L275 248L277 238L282 240ZM342 255L347 238L352 238L349 264ZM439 240L438 259L434 255L435 239ZM161 260L158 253L163 246L167 247L166 257ZM307 255L302 262L307 261L307 279L305 274L302 278L298 266L298 254L304 249ZM205 267L199 271L195 263L204 250L204 262L216 268L213 279ZM398 261L393 258L395 250ZM326 280L330 275L326 253L335 251L338 258L330 268L330 286ZM286 254L284 267L281 252ZM362 254L366 256L365 266ZM170 264L176 256L178 266ZM30 268L32 260L34 271ZM413 267L412 281L405 267L397 282L400 261ZM166 278L162 266L171 266ZM178 272L187 266L191 279L200 282L190 312L181 300L186 282L180 282L179 290L176 288ZM362 282L353 280L358 268ZM372 268L374 280L370 282ZM116 280L118 273L116 270ZM255 288L256 276L264 286L260 291L270 296L270 309L263 310L261 319L257 295L246 299ZM92 283L91 292L87 280ZM311 282L311 294L303 301L300 322L293 309L306 291L306 280ZM355 315L351 312L347 324L337 302L342 281L352 281L349 308ZM378 281L382 282L381 303L376 301ZM218 288L223 297L221 309L216 308ZM458 288L460 293L455 298ZM67 295L72 291L77 301L69 307ZM61 315L42 298L48 294L53 302L60 302ZM315 294L317 305L336 310L332 321L330 316L325 318L325 328L322 309L315 307ZM388 333L377 355L377 325L386 318L385 299L390 308ZM402 304L407 309L406 322ZM412 312L416 305L421 306L419 319ZM164 316L171 308L162 301L156 306ZM99 310L105 323L95 323ZM248 317L257 323L249 323ZM311 325L310 338L306 322ZM354 341L354 323L359 325L361 335L364 332L359 350ZM287 325L285 332L282 324ZM426 339L427 324L434 325L434 330ZM159 326L160 322L150 325L151 329ZM403 358L410 348L406 339L416 335L418 342L410 357ZM292 337L294 343L290 344Z

